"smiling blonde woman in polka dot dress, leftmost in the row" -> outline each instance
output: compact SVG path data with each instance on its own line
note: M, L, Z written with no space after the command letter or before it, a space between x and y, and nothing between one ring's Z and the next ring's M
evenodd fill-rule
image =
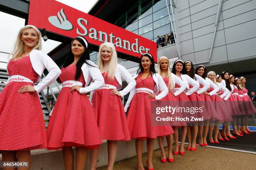
M41 51L41 38L35 26L21 28L7 65L10 77L0 93L0 150L3 161L28 161L30 165L30 150L47 147L38 92L56 80L61 71ZM34 86L45 68L48 75Z

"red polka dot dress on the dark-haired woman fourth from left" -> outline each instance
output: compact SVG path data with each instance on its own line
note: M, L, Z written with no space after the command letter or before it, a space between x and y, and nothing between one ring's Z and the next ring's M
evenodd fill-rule
M141 75L138 75L136 83L136 88L148 88L153 91L156 84L152 75L145 79L141 79ZM145 92L138 92L133 96L127 117L131 138L156 138L173 133L170 128L160 131L159 126L151 125L151 101L156 100L148 98L148 93Z

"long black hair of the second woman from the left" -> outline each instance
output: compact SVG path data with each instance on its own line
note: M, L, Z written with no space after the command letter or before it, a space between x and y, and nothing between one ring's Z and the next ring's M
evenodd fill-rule
M80 57L80 59L77 61L77 64L76 64L77 70L76 70L76 75L75 75L74 78L75 78L75 80L77 81L77 80L79 79L79 77L81 76L81 67L82 67L82 65L84 64L84 62L85 62L86 64L90 65L89 63L86 62L86 60L90 60L90 54L89 54L88 47L86 47L84 41L83 41L81 38L75 37L75 38L72 40L72 42L73 42L74 40L79 41L79 42L82 44L82 46L84 47L84 49L85 49L85 52L82 54L82 56ZM86 40L86 39L84 39L84 40ZM87 42L87 40L86 40L86 42ZM88 42L87 42L87 44L88 44ZM67 54L66 59L64 60L64 63L63 63L63 65L62 65L62 67L65 68L65 67L71 65L72 62L74 62L74 54L72 53L72 44L71 44L71 46L70 46L70 51L69 51L69 53ZM61 67L61 68L62 68L62 67ZM59 78L57 79L57 81L58 81L59 83L61 83L61 81L59 80Z

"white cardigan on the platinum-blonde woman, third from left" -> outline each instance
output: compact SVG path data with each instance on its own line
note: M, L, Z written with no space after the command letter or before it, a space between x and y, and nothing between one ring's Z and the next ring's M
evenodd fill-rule
M134 80L133 76L126 70L123 65L118 64L115 70L115 78L118 81L118 87L116 88L117 90L122 89L122 81L125 80L128 85L123 89L120 90L120 95L121 97L125 96L130 92L133 87L136 86L136 81ZM95 89L97 90L97 89ZM94 91L90 92L90 101L92 101L92 95Z

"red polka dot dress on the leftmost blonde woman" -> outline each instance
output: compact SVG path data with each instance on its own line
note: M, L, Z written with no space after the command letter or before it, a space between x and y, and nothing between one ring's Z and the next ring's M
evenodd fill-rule
M21 75L36 82L30 57L10 60L10 76ZM0 150L33 150L47 147L42 106L37 92L19 93L31 82L9 82L0 93Z

